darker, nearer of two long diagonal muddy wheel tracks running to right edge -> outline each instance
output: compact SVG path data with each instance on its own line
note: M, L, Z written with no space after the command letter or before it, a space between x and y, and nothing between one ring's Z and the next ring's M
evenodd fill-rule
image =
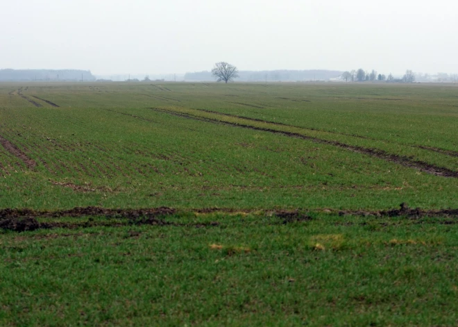
M230 123L228 121L219 121L217 119L198 117L198 116L188 115L188 114L184 114L184 113L176 112L172 110L165 110L165 109L158 109L158 108L149 108L149 109L155 110L157 112L165 112L165 113L168 113L169 115L176 115L178 117L184 117L187 119L194 119L198 121L207 121L213 124L225 124L225 125L234 126L234 127L248 128L248 129L252 129L255 131L264 131L264 132L269 132L273 134L281 134L281 135L285 135L288 137L296 137L302 140L308 140L308 141L312 141L312 142L319 143L319 144L337 146L341 149L346 149L348 151L352 151L356 153L362 153L368 156L372 156L375 158L385 160L387 162L394 162L394 163L397 163L405 167L414 168L419 171L423 171L427 174L432 174L435 176L458 178L458 171L453 171L446 167L439 167L436 165L431 165L427 162L420 161L420 160L413 160L412 158L407 158L405 156L398 156L396 154L387 153L386 151L379 150L379 149L368 149L362 146L355 146L355 145L345 144L345 143L337 142L337 141L323 140L317 137L311 137L311 136L306 136L306 135L302 135L299 133L291 133L287 131L278 131L278 130L271 129L271 128L262 128L262 127L256 127L256 126L246 125L246 124Z

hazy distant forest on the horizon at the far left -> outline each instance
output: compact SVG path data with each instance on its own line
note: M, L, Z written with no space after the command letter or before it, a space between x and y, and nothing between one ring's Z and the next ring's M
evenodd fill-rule
M0 81L95 81L89 70L0 69Z

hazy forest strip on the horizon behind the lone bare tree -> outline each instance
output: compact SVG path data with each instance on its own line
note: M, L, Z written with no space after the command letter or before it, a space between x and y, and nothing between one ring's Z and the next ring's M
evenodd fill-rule
M297 82L297 81L329 81L337 78L343 72L336 70L264 70L240 71L235 81L268 81L268 82ZM214 81L211 72L186 73L185 81Z

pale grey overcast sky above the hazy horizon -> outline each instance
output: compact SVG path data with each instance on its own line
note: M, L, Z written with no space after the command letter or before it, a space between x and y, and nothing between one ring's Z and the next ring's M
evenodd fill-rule
M0 0L0 68L458 73L457 0Z

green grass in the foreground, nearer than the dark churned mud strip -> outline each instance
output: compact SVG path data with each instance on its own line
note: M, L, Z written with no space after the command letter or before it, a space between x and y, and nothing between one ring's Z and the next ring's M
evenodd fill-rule
M0 324L457 324L450 219L309 215L3 234Z

